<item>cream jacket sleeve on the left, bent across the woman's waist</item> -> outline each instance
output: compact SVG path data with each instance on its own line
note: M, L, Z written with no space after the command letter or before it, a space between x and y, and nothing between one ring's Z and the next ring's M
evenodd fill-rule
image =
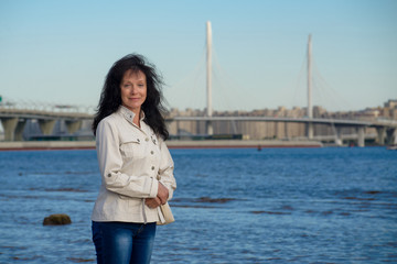
M135 198L154 198L159 182L153 177L139 177L121 173L122 157L117 129L108 120L99 122L96 146L103 185L109 191Z

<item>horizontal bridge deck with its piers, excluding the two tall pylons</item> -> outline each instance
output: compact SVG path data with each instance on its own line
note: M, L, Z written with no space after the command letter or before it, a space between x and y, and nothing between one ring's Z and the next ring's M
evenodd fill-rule
M78 110L78 109L77 109ZM68 134L78 131L84 120L92 121L94 116L88 112L76 111L75 108L53 108L45 110L37 110L34 108L12 105L0 105L0 120L4 130L6 141L22 141L22 132L28 120L36 120L42 133L51 135L57 120L65 122ZM333 136L335 142L342 142L342 128L355 128L357 131L357 145L365 145L366 128L375 128L377 131L376 140L383 144L390 144L396 141L397 120L373 119L373 120L344 120L344 119L322 119L322 118L286 118L286 117L170 117L167 119L168 123L172 122L283 122L283 123L304 123L310 124L325 124L334 127L336 134ZM309 134L307 135L308 139ZM324 135L312 135L312 140L325 139ZM328 136L330 138L330 136ZM332 138L332 136L331 136ZM352 138L352 136L351 136Z

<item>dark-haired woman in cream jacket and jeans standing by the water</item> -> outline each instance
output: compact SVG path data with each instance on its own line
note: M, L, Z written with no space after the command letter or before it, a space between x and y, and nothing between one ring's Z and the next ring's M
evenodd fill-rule
M98 263L150 263L160 206L176 188L161 77L141 55L110 68L93 123L101 186L92 216Z

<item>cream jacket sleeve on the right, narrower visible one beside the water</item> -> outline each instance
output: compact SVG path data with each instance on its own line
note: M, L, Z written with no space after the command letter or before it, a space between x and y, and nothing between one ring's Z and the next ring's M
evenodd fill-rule
M171 200L173 196L173 191L176 189L176 180L173 175L174 163L172 161L170 151L165 145L165 142L161 139L159 140L159 142L160 142L161 160L160 160L158 179L160 180L161 184L163 184L168 188L169 200Z

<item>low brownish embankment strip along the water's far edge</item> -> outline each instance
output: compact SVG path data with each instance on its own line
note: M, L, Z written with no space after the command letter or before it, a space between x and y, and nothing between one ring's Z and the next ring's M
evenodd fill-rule
M322 147L315 141L249 141L249 140L203 140L167 141L172 148L279 148ZM18 141L0 142L0 151L50 151L50 150L95 150L95 141Z

